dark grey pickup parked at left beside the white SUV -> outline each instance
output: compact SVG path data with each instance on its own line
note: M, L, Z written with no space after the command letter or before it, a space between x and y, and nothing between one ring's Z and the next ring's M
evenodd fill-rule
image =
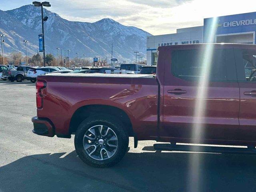
M9 70L9 80L22 82L27 79L27 72L32 66L18 66L15 70Z

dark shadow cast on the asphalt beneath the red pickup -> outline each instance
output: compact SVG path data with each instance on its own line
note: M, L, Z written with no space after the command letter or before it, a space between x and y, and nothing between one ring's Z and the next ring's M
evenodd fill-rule
M194 174L190 172L192 158L199 160ZM250 155L154 152L149 148L128 152L116 166L99 169L84 164L75 151L35 154L0 168L0 191L183 192L191 191L195 176L198 191L255 191L255 164L256 156Z

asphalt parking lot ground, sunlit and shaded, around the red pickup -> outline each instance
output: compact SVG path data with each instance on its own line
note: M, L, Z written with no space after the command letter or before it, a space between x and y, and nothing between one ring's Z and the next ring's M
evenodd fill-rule
M32 133L35 91L28 81L0 80L0 191L256 190L256 156L155 151L153 141L134 149L132 138L116 166L87 166L75 152L74 136Z

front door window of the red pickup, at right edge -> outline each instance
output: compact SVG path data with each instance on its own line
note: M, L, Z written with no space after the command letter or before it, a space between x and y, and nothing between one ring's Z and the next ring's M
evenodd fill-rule
M235 49L238 80L256 81L256 51Z

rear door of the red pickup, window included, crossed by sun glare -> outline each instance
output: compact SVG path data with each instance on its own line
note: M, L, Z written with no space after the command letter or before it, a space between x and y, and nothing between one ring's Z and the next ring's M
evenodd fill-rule
M205 46L178 46L166 57L160 134L170 140L236 140L239 88L234 52Z

